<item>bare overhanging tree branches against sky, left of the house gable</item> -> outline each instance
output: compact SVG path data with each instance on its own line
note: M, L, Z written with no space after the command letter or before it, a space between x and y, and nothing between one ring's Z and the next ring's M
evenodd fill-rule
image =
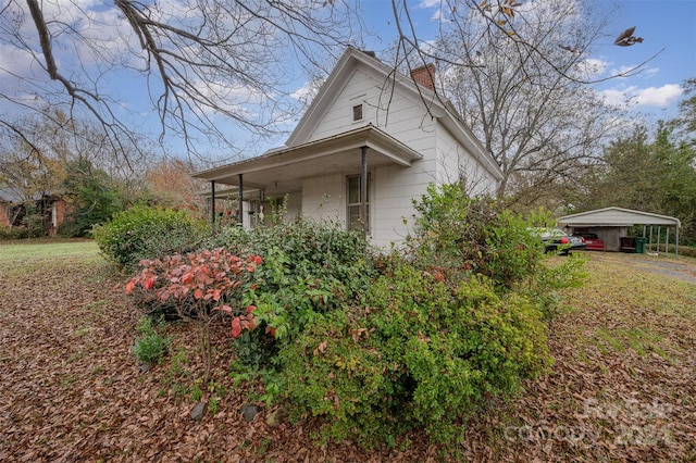
M285 98L297 65L339 53L360 30L343 1L4 0L0 2L0 130L32 143L17 114L91 117L121 161L133 162L151 103L159 140L189 154L239 154L246 133L273 134L298 107ZM112 90L116 88L116 90ZM141 111L141 109L139 110Z

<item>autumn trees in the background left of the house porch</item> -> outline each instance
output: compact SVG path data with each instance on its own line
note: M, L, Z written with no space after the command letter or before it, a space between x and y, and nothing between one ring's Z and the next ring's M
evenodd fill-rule
M59 112L26 117L21 124L37 135L30 145L21 136L1 140L0 188L17 198L14 205L24 211L14 225L28 236L46 235L41 224L50 211L41 211L37 202L48 197L67 201L58 232L70 237L88 236L92 225L139 202L200 209L200 186L190 177L196 170L190 162L151 154L140 158L138 170L124 168L103 134L87 122L69 121Z

